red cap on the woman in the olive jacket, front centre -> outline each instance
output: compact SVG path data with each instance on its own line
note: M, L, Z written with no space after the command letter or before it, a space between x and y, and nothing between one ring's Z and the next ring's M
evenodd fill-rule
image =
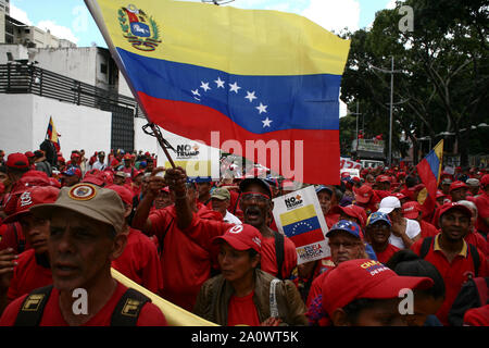
M227 241L236 250L253 249L258 252L262 249L262 235L253 226L248 224L234 225L224 233L224 235L215 237L212 243L218 244Z

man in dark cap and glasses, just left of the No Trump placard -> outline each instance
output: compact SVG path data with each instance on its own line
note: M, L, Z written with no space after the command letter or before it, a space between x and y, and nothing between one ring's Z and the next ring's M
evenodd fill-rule
M259 177L248 177L239 184L239 189L243 223L252 225L262 235L262 271L281 279L289 278L297 266L296 245L267 224L268 220L273 219L274 208L268 183Z

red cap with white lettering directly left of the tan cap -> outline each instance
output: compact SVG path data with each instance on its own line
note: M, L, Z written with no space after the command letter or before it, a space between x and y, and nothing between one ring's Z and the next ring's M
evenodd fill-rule
M15 212L9 215L3 223L18 221L22 215L29 213L29 209L37 204L53 203L58 199L60 189L53 186L29 187L18 196Z

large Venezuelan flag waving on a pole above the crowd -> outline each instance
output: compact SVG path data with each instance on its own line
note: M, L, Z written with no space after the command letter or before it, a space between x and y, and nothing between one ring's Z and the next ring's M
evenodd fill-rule
M237 140L234 153L290 178L339 183L339 88L350 41L277 11L85 1L150 122L222 149ZM263 140L254 144L268 148L267 159L246 151L253 148L247 140Z

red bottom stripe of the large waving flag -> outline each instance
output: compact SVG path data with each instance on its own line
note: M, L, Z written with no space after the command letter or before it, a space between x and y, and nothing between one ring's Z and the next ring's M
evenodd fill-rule
M271 151L267 150L266 162L260 164L286 177L291 177L291 174L293 174L291 172L296 170L294 141L302 140L303 150L302 153L298 153L298 160L300 159L298 163L302 162L302 182L326 185L339 184L339 130L287 129L254 134L240 127L217 110L205 105L158 99L142 92L139 92L139 98L151 122L183 137L202 140L208 146L213 145L211 132L218 132L220 144L217 146L221 148L226 140L237 140L244 152L247 140L263 140L269 145L278 141L280 156L278 158L277 156L271 156ZM288 147L287 142L285 147L283 146L284 142L281 141L284 140L288 141ZM234 149L234 153L242 156L243 153L239 150L239 148ZM244 154L250 159L249 153ZM254 156L255 162L259 162L258 156ZM283 162L284 157L287 161L286 164ZM287 173L287 171L291 172ZM293 178L297 179L298 176L296 175Z

